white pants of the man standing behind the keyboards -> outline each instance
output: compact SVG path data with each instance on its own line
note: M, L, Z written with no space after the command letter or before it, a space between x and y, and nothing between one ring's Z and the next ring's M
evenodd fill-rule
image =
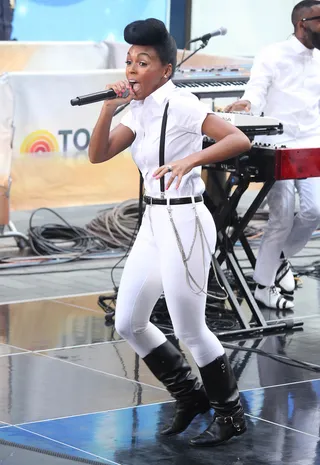
M300 140L286 145L319 147L320 140ZM300 199L297 215L294 215L295 189ZM295 255L303 249L320 224L320 178L277 181L267 200L269 221L261 241L253 277L262 286L273 286L281 263L281 252L286 258Z

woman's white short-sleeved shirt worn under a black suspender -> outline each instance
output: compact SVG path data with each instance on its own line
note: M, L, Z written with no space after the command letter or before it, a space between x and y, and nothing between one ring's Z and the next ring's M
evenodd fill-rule
M121 124L136 135L131 147L132 157L143 175L145 193L152 197L160 197L160 180L152 175L159 167L161 124L168 100L165 164L202 150L202 123L212 113L191 92L177 88L171 80L144 101L130 103L130 110ZM165 175L166 183L170 176L170 173ZM204 189L199 166L183 176L179 189L176 189L175 180L166 191L166 197L200 195Z

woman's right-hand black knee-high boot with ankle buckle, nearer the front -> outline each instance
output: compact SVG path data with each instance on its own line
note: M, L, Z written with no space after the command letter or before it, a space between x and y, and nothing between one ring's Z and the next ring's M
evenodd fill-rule
M217 446L247 429L238 386L226 354L199 369L215 414L209 427L190 444Z

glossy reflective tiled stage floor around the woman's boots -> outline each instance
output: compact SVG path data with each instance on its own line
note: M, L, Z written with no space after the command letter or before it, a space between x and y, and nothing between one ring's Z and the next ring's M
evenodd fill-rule
M269 320L302 319L302 331L236 340L227 349L248 432L214 450L188 446L209 414L178 437L159 436L172 399L113 326L104 325L96 295L2 305L0 442L56 454L40 454L44 465L62 464L64 455L75 463L121 465L319 465L318 299L319 282L304 279L294 313L264 311ZM250 348L312 363L315 370L243 350ZM8 447L0 443L0 463L38 463Z

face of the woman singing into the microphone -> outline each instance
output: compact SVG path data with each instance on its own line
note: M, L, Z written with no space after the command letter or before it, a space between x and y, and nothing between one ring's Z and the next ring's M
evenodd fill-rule
M127 54L126 76L135 100L144 100L165 84L172 72L171 65L163 65L156 50L147 45L132 45Z

